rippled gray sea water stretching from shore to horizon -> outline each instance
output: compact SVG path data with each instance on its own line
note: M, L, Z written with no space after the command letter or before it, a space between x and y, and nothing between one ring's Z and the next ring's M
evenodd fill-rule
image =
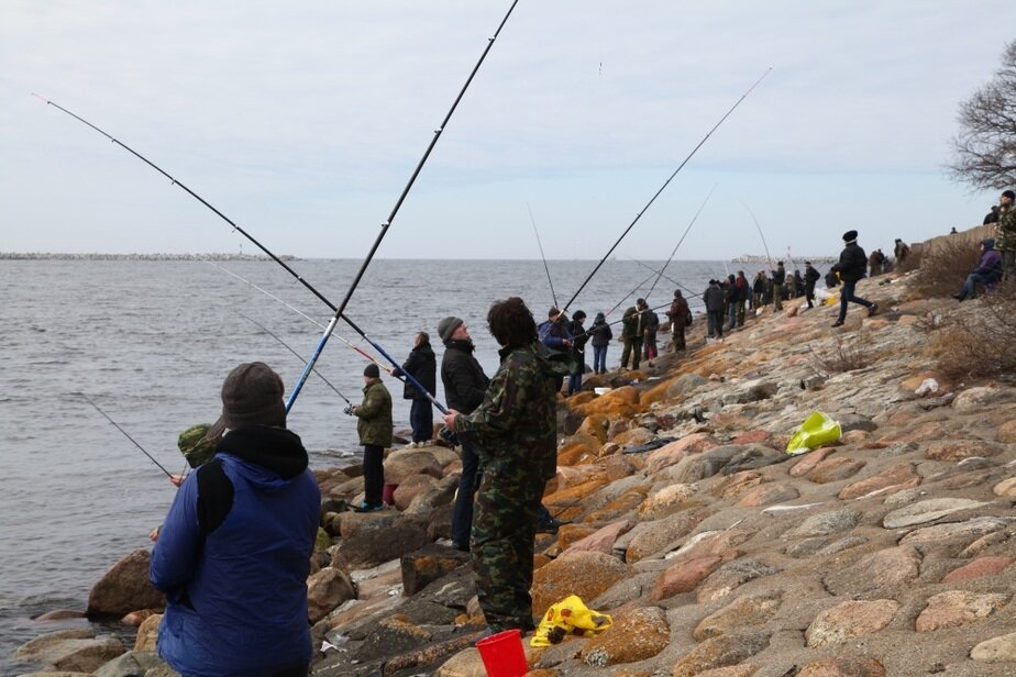
M328 308L270 262L217 264L325 324ZM595 262L551 262L564 303ZM662 262L652 265L660 267ZM733 264L728 264L733 269ZM338 304L360 262L299 260L292 267ZM753 271L752 267L750 273ZM722 263L675 262L667 276L700 296ZM651 273L631 260L607 262L571 310L596 312L645 295ZM669 302L675 285L661 280L650 306ZM552 304L542 262L376 260L345 314L397 360L415 333L465 319L488 374L497 346L484 318L495 299L521 296L538 321ZM24 672L11 653L40 634L84 621L42 623L53 609L84 610L88 591L126 553L148 547L148 531L175 489L165 475L76 392L87 393L170 471L185 467L177 434L213 421L225 374L242 362L272 365L291 387L302 364L251 318L303 356L321 334L296 310L201 262L0 260L0 674ZM617 328L616 328L617 330ZM615 331L617 335L619 332ZM346 325L336 334L374 353ZM616 366L619 346L608 360ZM320 371L354 402L365 359L333 337ZM396 428L408 426L401 384L385 376L395 397ZM440 387L440 379L439 379ZM443 401L443 393L438 393ZM344 402L311 377L289 415L289 428L311 452L313 467L346 465L357 455L355 420Z

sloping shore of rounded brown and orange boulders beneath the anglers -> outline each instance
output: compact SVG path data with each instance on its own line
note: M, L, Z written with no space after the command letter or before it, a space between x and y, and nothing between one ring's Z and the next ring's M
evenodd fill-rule
M538 536L533 613L577 595L614 624L546 648L527 637L531 677L1016 674L1016 387L937 369L929 328L981 301L923 299L913 279L863 280L881 311L854 307L840 330L833 308L796 302L708 345L696 321L687 354L561 400L544 504L565 523ZM841 439L786 454L816 410ZM345 510L356 468L318 473L313 675L485 675L468 556L446 541L457 464L441 446L391 451L395 508L369 514ZM35 675L172 675L146 568L130 554L89 600L92 617L133 612L133 647L67 631L21 659L56 670Z

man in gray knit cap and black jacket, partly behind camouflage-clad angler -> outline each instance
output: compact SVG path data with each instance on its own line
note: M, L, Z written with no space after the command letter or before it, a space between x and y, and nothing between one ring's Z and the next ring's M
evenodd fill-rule
M470 328L462 318L448 317L438 323L438 336L444 344L441 358L441 382L449 409L471 414L484 401L489 379L473 356L475 349ZM460 439L462 474L452 509L452 547L468 552L473 529L473 496L476 493L479 446L474 440Z

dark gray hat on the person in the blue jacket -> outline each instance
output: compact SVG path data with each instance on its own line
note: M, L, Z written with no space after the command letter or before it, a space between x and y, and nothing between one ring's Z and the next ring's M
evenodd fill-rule
M230 430L247 425L286 425L283 379L263 362L242 364L222 384L222 422Z

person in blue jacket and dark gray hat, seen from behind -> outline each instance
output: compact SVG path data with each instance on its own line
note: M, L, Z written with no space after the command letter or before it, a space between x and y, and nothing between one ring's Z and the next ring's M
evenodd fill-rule
M230 371L228 432L184 480L158 531L148 570L166 595L158 653L184 677L307 675L321 495L286 429L283 390L264 363Z

